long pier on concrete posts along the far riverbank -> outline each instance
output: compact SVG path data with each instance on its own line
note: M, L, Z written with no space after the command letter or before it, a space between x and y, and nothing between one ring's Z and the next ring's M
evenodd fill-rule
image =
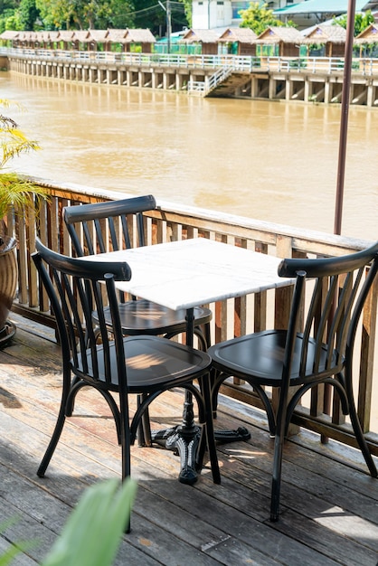
M340 58L159 55L8 49L1 66L35 77L128 88L174 90L199 96L338 104ZM378 60L353 62L351 104L378 107Z

